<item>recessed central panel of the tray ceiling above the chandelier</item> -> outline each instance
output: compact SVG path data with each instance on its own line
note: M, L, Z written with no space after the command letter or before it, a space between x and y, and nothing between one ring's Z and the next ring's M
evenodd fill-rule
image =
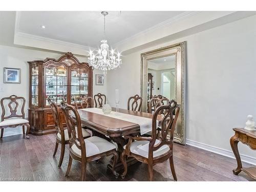
M114 45L182 13L184 11L110 11L106 16L106 38ZM103 18L100 11L20 11L15 30L97 48L103 38Z

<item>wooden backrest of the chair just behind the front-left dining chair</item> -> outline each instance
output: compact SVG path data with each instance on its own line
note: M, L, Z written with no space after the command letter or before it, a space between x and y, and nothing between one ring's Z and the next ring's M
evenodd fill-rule
M55 102L53 102L50 97L48 97L47 100L52 109L55 129L60 134L61 140L63 139L63 141L65 141L64 127L60 121L60 113L59 113L58 105Z

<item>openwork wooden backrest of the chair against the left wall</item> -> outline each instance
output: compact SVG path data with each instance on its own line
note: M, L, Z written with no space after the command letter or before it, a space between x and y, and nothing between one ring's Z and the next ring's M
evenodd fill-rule
M9 100L10 102L8 103L8 108L10 110L10 115L5 116L6 114L6 108L5 108L5 100ZM22 105L22 108L20 110L21 115L17 114L17 109L19 102ZM2 107L2 116L1 116L1 121L4 121L5 119L11 118L11 117L22 117L23 119L25 118L25 113L24 113L24 106L25 106L26 100L24 97L18 97L16 95L11 95L10 97L4 97L1 99L1 107Z

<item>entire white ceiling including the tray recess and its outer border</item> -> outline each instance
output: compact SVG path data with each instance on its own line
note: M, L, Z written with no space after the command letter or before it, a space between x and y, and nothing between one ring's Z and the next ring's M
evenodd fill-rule
M0 11L0 45L88 55L103 38L101 11ZM255 11L110 11L106 39L122 55L256 14ZM41 28L44 25L46 28Z

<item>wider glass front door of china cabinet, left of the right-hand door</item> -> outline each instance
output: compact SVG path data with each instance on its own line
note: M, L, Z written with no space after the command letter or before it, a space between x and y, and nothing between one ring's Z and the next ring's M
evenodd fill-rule
M67 69L64 66L49 66L46 68L46 98L60 104L67 99ZM46 99L46 105L49 105Z

